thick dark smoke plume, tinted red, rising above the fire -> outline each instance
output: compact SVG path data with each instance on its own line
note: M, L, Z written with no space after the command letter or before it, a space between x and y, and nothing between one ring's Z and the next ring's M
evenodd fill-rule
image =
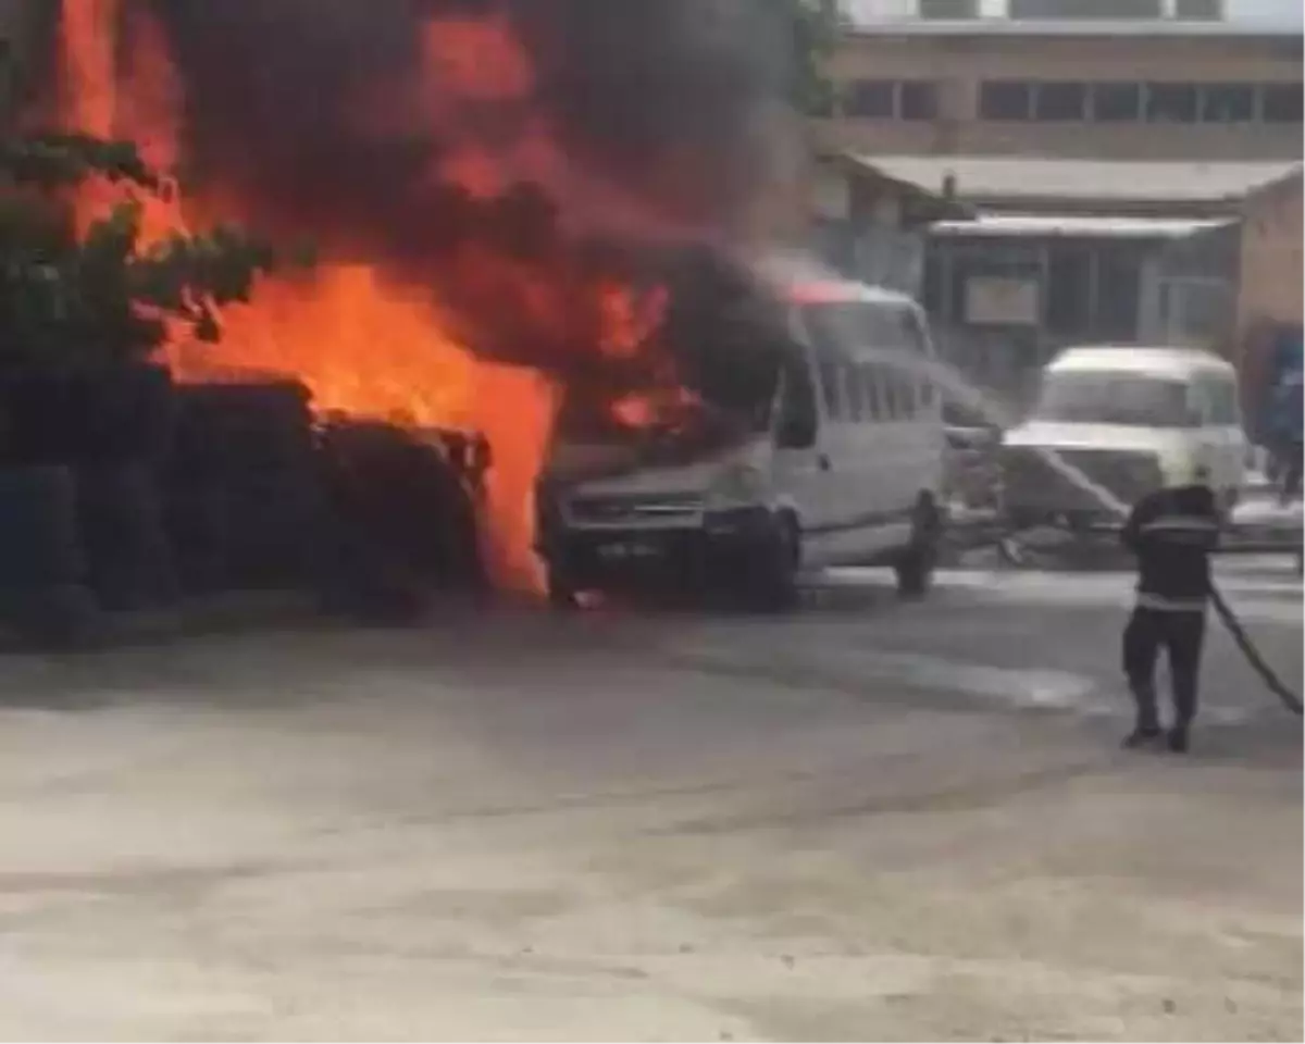
M638 278L667 244L731 240L770 188L788 68L769 7L125 0L121 55L129 67L149 16L201 197L221 187L260 230L431 286L487 355L572 371L592 361L577 303L595 277ZM432 74L432 20L495 18L529 55L529 91L466 97ZM515 147L532 128L552 161ZM499 163L501 189L441 176L468 145Z

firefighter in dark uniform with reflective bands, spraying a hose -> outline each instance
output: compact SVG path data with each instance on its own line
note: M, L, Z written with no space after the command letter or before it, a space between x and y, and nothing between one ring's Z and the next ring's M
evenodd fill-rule
M1137 701L1130 748L1160 739L1155 666L1164 650L1174 705L1168 745L1176 753L1188 750L1210 600L1210 553L1219 544L1219 523L1208 472L1198 468L1191 484L1139 501L1124 526L1124 544L1138 560L1137 603L1124 632L1124 671Z

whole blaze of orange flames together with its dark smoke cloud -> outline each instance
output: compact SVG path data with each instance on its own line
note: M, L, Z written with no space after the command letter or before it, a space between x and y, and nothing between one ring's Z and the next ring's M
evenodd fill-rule
M748 0L63 0L42 115L175 172L142 248L218 221L315 244L221 343L168 343L177 380L286 375L318 418L483 436L488 568L540 590L559 420L660 442L676 415L683 453L778 394L766 351L663 330L697 305L662 258L788 221L790 29ZM81 223L119 193L87 187Z

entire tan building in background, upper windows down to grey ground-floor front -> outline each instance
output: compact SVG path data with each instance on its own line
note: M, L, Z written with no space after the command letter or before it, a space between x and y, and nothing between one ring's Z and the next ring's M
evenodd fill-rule
M1305 31L1178 0L899 7L848 31L817 130L979 215L930 231L920 292L979 384L1015 405L1067 343L1241 360L1305 324Z

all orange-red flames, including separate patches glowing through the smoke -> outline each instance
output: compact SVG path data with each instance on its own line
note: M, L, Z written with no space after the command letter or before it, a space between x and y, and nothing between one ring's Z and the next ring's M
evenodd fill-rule
M185 161L183 81L164 34L144 10L132 12L129 47L120 48L123 14L120 0L64 0L63 119L68 129L137 141L147 161L171 168ZM377 85L376 111L359 119L437 125L457 144L441 149L427 176L474 198L492 200L523 179L547 181L556 174L560 150L542 117L513 121L499 140L455 133L468 111L530 99L530 56L508 21L432 20L420 51L418 111L395 104L385 85ZM103 184L87 185L77 201L80 222L103 213L120 198L115 193ZM184 227L188 218L200 223L248 217L234 185L210 184L184 202L153 201L147 207L147 239ZM313 228L299 231L315 235ZM557 377L484 361L485 352L472 351L468 341L474 328L465 315L441 305L440 287L422 284L386 261L359 247L312 277L265 281L251 303L226 309L221 345L177 339L168 345L167 360L181 380L218 380L230 371L284 372L304 381L321 411L482 432L493 455L487 487L492 561L501 583L535 587L531 497L557 410ZM509 258L492 245L463 247L458 264L475 266L476 284L491 298L488 308L501 288L499 307L521 312L542 337L562 341L566 326L589 330L592 350L612 359L645 351L666 307L660 292L598 279L577 287L574 273ZM573 321L569 312L577 308L590 313L587 325ZM664 365L660 369L664 373ZM620 407L629 423L647 412L638 398Z

